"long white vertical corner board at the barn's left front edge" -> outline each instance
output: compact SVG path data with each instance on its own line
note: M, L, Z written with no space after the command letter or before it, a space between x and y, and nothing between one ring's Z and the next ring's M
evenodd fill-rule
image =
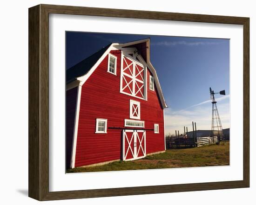
M75 163L75 154L76 154L76 142L77 142L77 132L78 132L78 123L79 123L79 112L80 112L80 102L81 102L81 83L77 87L77 97L76 97L76 107L75 107L75 118L74 118L74 132L73 132L73 144L71 152L71 161L70 167L74 168Z

